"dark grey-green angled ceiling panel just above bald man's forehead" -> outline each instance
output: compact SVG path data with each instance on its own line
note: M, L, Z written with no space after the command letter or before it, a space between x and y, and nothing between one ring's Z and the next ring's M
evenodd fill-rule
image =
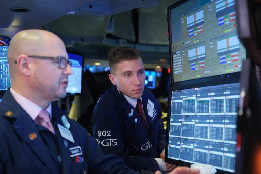
M64 15L44 27L65 44L93 44L104 41L110 15Z

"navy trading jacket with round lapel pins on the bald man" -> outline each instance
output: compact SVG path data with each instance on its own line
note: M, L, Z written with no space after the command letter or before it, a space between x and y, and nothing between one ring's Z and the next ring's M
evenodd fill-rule
M61 137L64 112L52 103L55 135L37 125L8 90L0 102L0 173L136 173L115 155L104 156L98 144L67 118L75 143ZM75 162L76 157L79 161Z

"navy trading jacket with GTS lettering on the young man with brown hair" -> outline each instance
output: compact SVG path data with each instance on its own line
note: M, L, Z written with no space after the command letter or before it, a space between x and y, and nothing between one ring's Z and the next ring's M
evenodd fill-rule
M151 103L154 108L149 107ZM148 129L137 110L113 85L95 106L93 137L104 154L118 155L136 171L155 172L160 168L154 158L160 158L160 153L165 149L166 130L160 118L160 106L151 91L144 89L142 104ZM153 115L148 115L148 109L152 109Z

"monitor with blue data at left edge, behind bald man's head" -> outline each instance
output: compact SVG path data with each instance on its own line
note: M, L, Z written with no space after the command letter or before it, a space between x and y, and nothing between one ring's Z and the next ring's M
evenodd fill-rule
M9 46L0 46L0 93L4 93L12 85L7 60L8 48Z

